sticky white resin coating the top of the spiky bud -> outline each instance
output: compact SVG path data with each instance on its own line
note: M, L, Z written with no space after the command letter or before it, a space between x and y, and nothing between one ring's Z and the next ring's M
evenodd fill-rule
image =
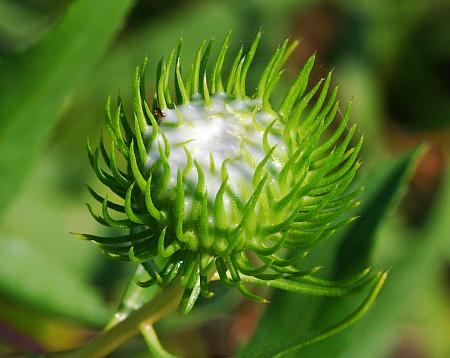
M240 194L242 184L252 182L255 166L264 158L262 142L264 129L275 119L272 114L261 109L260 100L229 100L225 94L211 97L211 104L206 107L203 100L195 100L189 104L175 109L163 110L160 129L164 132L170 144L168 158L171 174L170 185L176 185L178 168L186 167L187 157L185 147L192 159L202 167L205 173L205 183L208 196L211 200L216 196L222 183L221 166L228 159L226 165L228 184L236 194ZM181 124L179 123L181 117ZM152 128L149 128L151 135ZM280 139L270 134L269 145L280 144ZM158 145L164 149L164 140L161 133L148 150L146 167L151 168L160 160ZM253 165L243 154L243 147L250 154ZM211 168L210 157L214 159L214 168ZM248 157L248 155L247 155ZM269 161L270 170L278 171L279 163ZM186 175L187 181L194 185L197 183L197 171L192 166Z

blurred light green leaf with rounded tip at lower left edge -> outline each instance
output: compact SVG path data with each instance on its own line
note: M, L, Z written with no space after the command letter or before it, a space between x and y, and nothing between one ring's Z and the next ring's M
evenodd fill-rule
M0 292L14 302L101 326L109 310L94 287L39 247L0 236Z

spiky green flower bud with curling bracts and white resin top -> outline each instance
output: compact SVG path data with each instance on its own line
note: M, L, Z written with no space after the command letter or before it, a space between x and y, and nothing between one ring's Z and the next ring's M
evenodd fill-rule
M187 77L180 41L176 53L159 63L153 104L147 102L145 62L133 81L134 120L127 119L120 98L115 113L108 100L110 148L102 140L95 150L88 143L99 180L123 199L113 203L89 189L102 203L102 215L89 209L101 224L129 230L81 237L108 257L142 263L151 276L142 286L181 277L184 311L200 292L210 297L208 283L216 279L257 301L264 299L246 283L339 296L375 279L365 277L366 270L330 282L312 276L317 268L299 268L309 250L352 220L340 217L357 205L359 189L347 188L360 166L362 138L351 144L350 106L335 121L339 103L331 73L308 86L314 56L281 103L271 103L297 42L286 40L276 50L248 94L246 78L260 38L258 33L246 53L241 47L226 82L230 35L213 64L212 40L205 40ZM111 210L122 217L113 218Z

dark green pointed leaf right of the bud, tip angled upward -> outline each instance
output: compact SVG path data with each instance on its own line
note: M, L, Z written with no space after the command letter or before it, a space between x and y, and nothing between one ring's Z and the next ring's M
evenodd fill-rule
M366 181L363 205L357 213L362 218L354 222L340 238L343 249L339 249L340 253L337 260L338 262L343 261L343 270L347 273L353 272L357 267L367 266L373 247L374 234L386 213L398 202L404 192L411 176L412 167L422 152L423 147L419 147L397 160L384 163L382 168L377 168L370 176L367 176L370 179ZM357 235L356 239L354 235ZM360 251L355 251L350 243L358 245ZM320 251L320 249L316 251ZM320 262L333 261L333 253L330 253L330 251L335 252L333 247L330 247L327 251L321 253ZM349 253L354 254L354 256L349 257ZM342 259L343 255L345 255L347 261ZM340 277L341 275L334 274L334 276ZM240 351L239 356L245 356L246 352L249 351L258 351L265 347L268 342L283 340L283 338L291 337L292 334L300 335L312 323L315 327L323 328L325 325L316 324L318 321L317 314L329 308L330 305L333 307L331 309L333 320L328 319L327 325L337 322L345 315L343 312L351 312L357 306L355 301L359 300L359 297L327 299L324 302L328 307L325 307L324 305L320 306L320 302L323 300L313 301L311 298L302 295L275 292L272 303L263 315L252 341ZM346 303L345 310L336 309L333 303L337 301ZM274 330L273 327L277 327L277 329ZM322 343L319 346L327 346L327 343Z

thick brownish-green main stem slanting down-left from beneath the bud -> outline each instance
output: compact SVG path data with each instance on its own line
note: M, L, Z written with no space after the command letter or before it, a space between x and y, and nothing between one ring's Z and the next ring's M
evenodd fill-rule
M143 324L157 322L173 312L180 302L183 286L178 280L163 288L152 300L138 310L130 313L123 321L100 333L80 348L67 352L50 354L50 357L62 358L98 358L104 357L139 333Z

